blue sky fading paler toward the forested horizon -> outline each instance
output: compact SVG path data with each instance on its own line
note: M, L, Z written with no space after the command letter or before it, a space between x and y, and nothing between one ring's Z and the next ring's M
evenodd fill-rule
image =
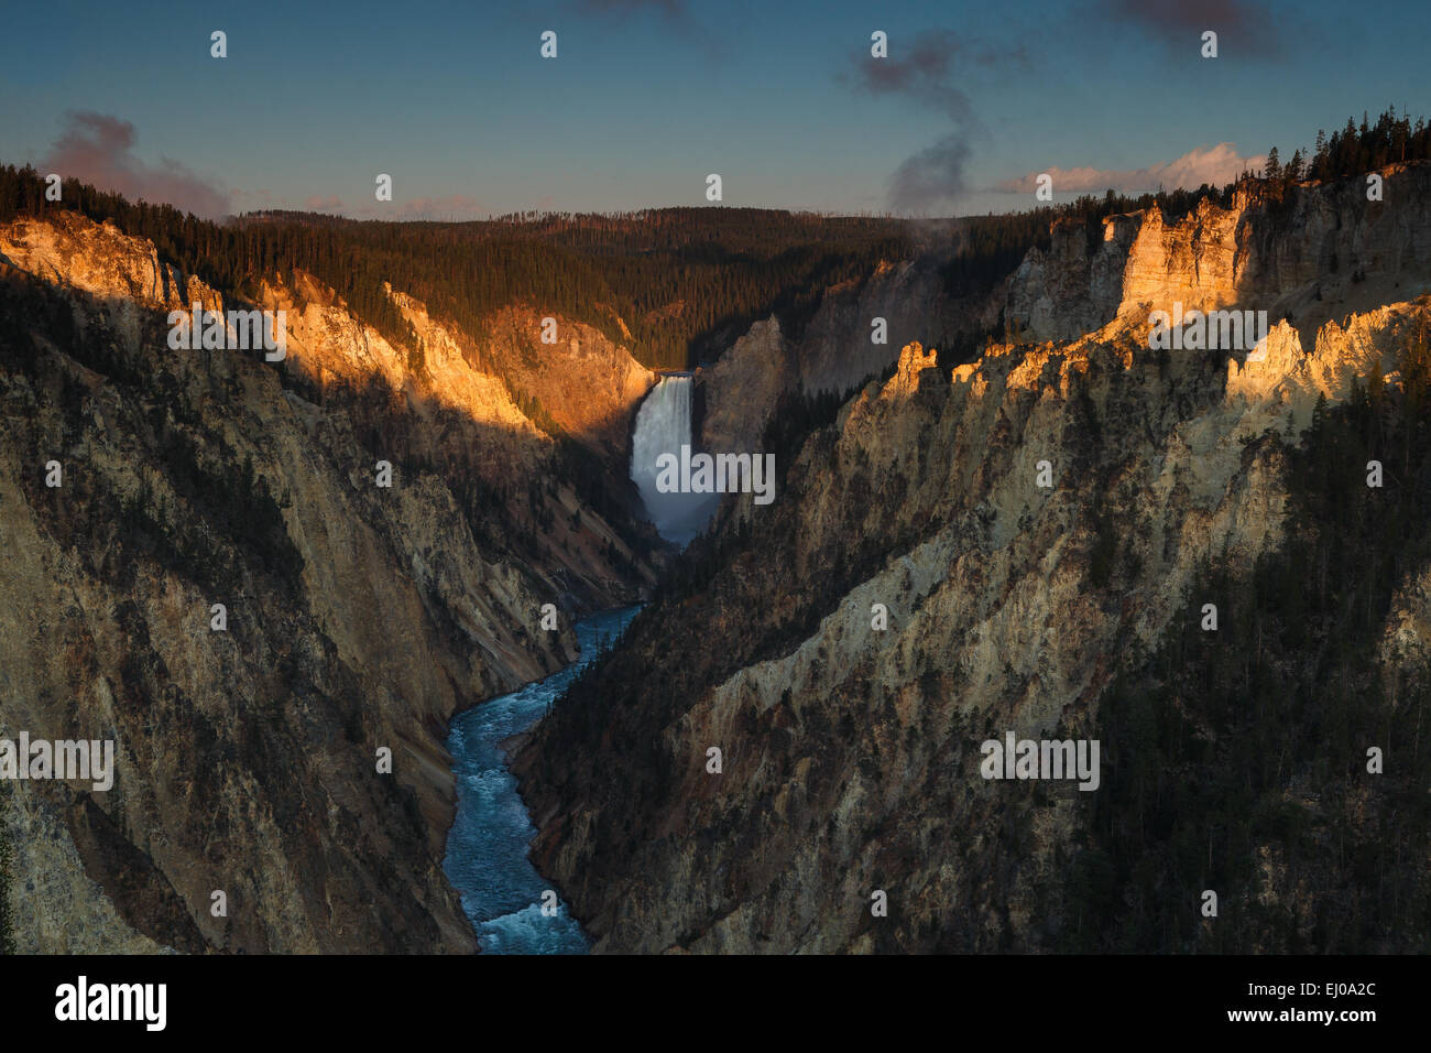
M1036 172L1146 182L1138 170L1219 143L1224 163L1289 155L1388 103L1431 115L1424 3L50 3L6 17L0 159L103 162L170 196L192 181L232 211L697 205L718 172L727 205L969 213L1033 203L995 188ZM1199 27L1219 33L1216 59ZM538 54L547 29L554 60ZM873 30L892 66L867 74ZM890 90L871 90L884 74ZM132 125L116 156L56 148L94 135L74 112ZM952 140L959 192L934 163L900 199L902 165ZM379 172L391 205L373 199Z

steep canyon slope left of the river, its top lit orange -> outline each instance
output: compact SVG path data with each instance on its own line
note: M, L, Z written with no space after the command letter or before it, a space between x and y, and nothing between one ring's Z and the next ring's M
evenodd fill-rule
M9 785L20 950L474 948L446 722L571 660L544 603L570 626L655 580L611 425L654 378L574 338L514 388L509 347L391 295L411 345L299 272L255 304L283 361L173 351L170 309L245 305L109 223L0 226L4 734L116 742L109 792Z

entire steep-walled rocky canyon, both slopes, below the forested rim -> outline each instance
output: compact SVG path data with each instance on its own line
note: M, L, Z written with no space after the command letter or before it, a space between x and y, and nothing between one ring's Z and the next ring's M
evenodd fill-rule
M1139 729L1172 718L1148 706L1221 749L1242 731L1159 665L1189 609L1224 612L1229 666L1295 679L1244 600L1327 533L1295 519L1298 444L1420 398L1431 165L1379 175L1378 202L1358 179L1245 183L1182 215L1059 221L969 288L953 235L926 231L804 315L723 321L678 372L638 361L620 317L558 315L551 345L532 302L477 328L386 282L378 327L302 268L220 291L112 221L0 223L0 735L116 742L104 792L0 785L17 948L464 953L474 925L541 946L521 908L538 884L585 933L560 943L597 953L1108 950L1079 943L1085 918L1118 913L1143 925L1130 947L1162 925L1152 948L1222 948L1159 898L1203 880L1251 911L1241 950L1369 924L1369 878L1328 864L1341 884L1309 887L1298 852L1365 848L1355 811L1422 894L1425 762L1404 746L1379 797L1311 788L1329 746L1279 758L1246 845L1189 835L1211 877L1113 881L1130 864L1110 838L1143 828L1129 772L1163 787ZM170 348L193 304L282 312L285 355ZM1149 345L1175 304L1265 311L1265 357ZM798 400L829 415L791 425ZM1420 477L1418 443L1375 450L1391 486ZM683 446L770 457L774 479L661 506L657 458ZM1338 483L1342 504L1367 489L1348 450L1319 463L1361 487ZM1369 665L1338 692L1395 746L1418 741L1431 658L1411 523L1390 599L1352 605ZM1304 570L1325 587L1345 566ZM577 675L577 620L638 603ZM521 888L502 894L448 854L449 736L478 725L459 771L501 774L495 729L514 734L537 830L528 867L525 824L504 828ZM980 744L1006 735L1102 742L1098 792L982 778ZM1421 936L1391 928L1358 946Z

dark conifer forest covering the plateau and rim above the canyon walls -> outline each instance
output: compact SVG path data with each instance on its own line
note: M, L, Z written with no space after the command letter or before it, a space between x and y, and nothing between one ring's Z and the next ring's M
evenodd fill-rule
M1387 110L1375 123L1364 115L1359 128L1348 119L1329 138L1318 133L1314 150L1294 150L1285 163L1274 146L1256 178L1285 188L1427 158L1431 128ZM990 288L1030 246L1047 246L1055 221L1083 222L1093 241L1105 216L1158 206L1175 219L1202 196L1231 203L1235 186L1136 198L1109 191L1066 205L956 221L944 266L949 291ZM771 312L787 334L798 335L827 285L864 278L881 259L909 258L919 239L910 223L890 216L717 206L519 213L477 222L258 212L216 223L73 179L62 183L59 203L47 202L44 189L43 173L33 168L0 166L0 222L53 208L113 219L124 232L153 241L186 274L239 297L252 294L265 277L308 271L398 341L408 338L408 327L384 282L425 301L436 317L475 338L487 332L494 312L525 304L597 328L653 368L687 368L713 358Z

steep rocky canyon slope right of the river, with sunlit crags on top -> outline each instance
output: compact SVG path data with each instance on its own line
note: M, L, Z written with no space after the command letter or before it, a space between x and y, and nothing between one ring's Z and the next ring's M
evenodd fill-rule
M1056 234L1045 342L909 342L728 497L514 762L595 950L1424 948L1431 176L1382 175ZM1151 350L1175 299L1265 360ZM1102 789L980 778L1007 731Z

